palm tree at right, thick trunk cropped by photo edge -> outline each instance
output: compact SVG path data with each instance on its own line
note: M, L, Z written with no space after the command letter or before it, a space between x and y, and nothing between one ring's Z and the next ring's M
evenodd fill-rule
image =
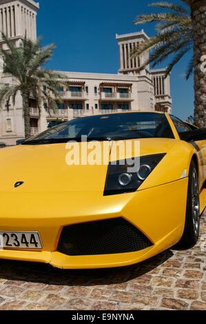
M181 0L182 4L173 2L156 2L149 6L164 8L166 12L140 14L135 24L156 22L154 37L139 45L132 53L136 57L145 50L151 50L152 67L172 56L167 66L167 75L187 52L191 52L186 79L194 72L194 121L199 127L206 126L206 76L202 69L203 56L206 54L206 0Z

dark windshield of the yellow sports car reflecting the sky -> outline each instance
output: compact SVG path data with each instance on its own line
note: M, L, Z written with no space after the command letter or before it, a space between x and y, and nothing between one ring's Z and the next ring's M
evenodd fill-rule
M92 140L174 138L165 114L130 112L73 119L32 137L29 143L61 143Z

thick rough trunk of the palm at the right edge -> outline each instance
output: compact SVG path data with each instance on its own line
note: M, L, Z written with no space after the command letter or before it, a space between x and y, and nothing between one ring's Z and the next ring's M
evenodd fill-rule
M192 3L192 28L194 38L194 121L206 127L206 72L201 58L206 55L206 0Z

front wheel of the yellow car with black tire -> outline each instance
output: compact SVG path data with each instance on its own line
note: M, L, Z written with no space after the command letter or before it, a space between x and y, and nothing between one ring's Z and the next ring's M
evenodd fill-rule
M178 247L189 249L196 245L200 230L200 197L198 185L198 172L194 161L189 167L189 183L187 190L187 210L185 216L185 229Z

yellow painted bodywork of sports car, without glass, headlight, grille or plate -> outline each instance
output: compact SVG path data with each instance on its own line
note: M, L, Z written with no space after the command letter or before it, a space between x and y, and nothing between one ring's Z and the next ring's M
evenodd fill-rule
M138 263L178 243L185 226L192 159L198 165L200 212L206 205L206 141L197 145L181 141L169 115L166 117L174 139L140 140L141 156L166 154L141 187L127 194L103 196L107 165L67 165L65 143L0 150L0 231L37 231L43 243L39 250L2 249L0 258L50 263L63 269L117 267ZM119 159L125 156L119 153ZM14 188L17 181L24 184ZM63 227L117 218L134 225L151 245L118 254L70 256L59 252Z

